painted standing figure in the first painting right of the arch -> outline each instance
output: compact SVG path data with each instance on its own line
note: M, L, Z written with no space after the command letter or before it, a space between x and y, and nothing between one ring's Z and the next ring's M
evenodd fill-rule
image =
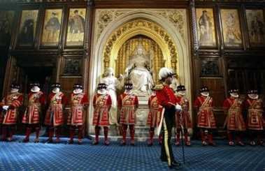
M207 15L207 10L203 10L203 14L199 18L200 38L199 42L203 45L213 43L213 23Z

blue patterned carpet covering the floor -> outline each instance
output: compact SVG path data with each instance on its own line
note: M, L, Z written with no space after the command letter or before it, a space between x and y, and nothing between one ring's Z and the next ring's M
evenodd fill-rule
M168 170L159 161L160 147L148 147L144 142L136 147L120 147L112 142L92 146L91 140L83 145L0 142L0 170ZM217 141L218 147L201 147L194 141L185 148L186 164L181 170L265 170L265 147L229 147L225 141ZM175 158L182 161L180 147L173 147Z

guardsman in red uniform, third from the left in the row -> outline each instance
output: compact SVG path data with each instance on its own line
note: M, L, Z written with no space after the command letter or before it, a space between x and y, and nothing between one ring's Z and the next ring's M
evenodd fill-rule
M48 97L48 110L46 112L44 124L49 128L48 142L52 143L52 137L56 134L56 142L60 142L61 126L64 124L64 105L66 105L67 99L64 93L61 91L61 84L52 84L52 92Z

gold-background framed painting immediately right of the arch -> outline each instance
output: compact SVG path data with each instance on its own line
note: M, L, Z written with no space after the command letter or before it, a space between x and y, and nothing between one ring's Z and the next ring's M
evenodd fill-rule
M213 8L196 8L197 32L200 47L216 47Z

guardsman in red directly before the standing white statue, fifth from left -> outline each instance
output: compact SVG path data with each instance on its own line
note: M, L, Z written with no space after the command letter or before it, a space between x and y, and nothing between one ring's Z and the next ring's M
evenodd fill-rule
M99 144L99 131L100 127L103 126L104 129L104 144L109 145L108 141L108 126L110 125L110 107L111 107L111 97L107 91L107 85L105 83L99 83L97 87L97 92L93 98L93 125L95 126L95 140L94 145Z

